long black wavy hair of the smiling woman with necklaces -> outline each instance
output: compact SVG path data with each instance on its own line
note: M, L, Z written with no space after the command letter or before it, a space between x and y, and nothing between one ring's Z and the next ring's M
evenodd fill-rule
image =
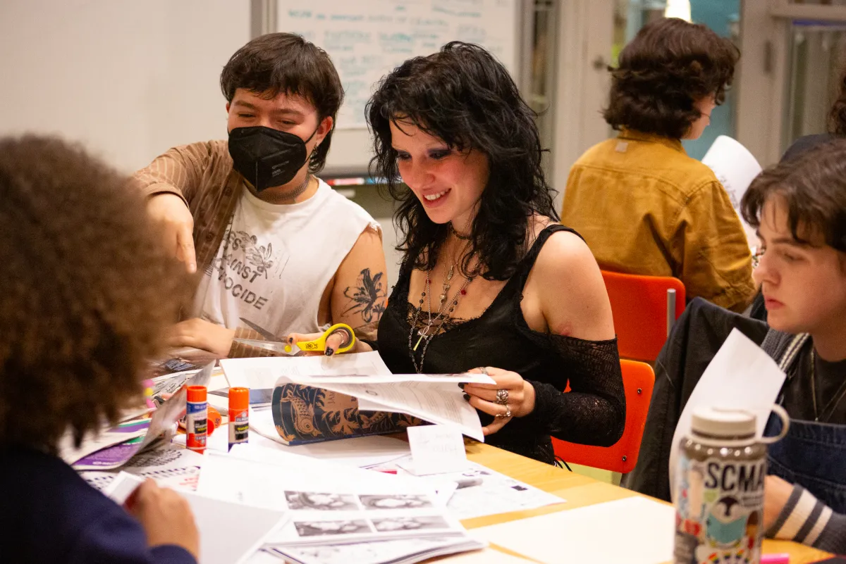
M528 247L529 218L541 214L558 220L541 169L536 113L502 63L481 46L452 41L440 52L404 62L380 81L366 115L376 154L371 174L386 178L388 192L399 202L393 220L403 239L397 250L414 268L434 268L449 225L430 220L402 183L391 146L392 122L411 122L450 149L487 157L489 180L470 233L480 266L470 270L468 256L461 264L464 274L510 278Z

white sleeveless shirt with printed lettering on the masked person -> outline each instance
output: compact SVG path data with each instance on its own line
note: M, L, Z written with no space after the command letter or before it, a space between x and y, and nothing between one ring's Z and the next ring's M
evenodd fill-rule
M194 317L283 337L317 333L321 296L366 227L379 224L317 179L305 202L266 203L245 187L194 299Z

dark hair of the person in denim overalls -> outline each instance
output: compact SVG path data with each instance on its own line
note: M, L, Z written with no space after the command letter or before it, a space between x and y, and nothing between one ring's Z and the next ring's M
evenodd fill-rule
M796 241L818 235L846 252L846 140L818 145L756 176L740 202L746 223L758 228L764 205L774 196L787 206Z

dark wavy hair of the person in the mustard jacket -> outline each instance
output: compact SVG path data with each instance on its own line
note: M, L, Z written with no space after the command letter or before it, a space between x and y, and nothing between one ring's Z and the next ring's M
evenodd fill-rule
M603 112L614 129L627 127L680 139L700 118L695 100L725 100L740 52L702 24L658 19L620 52Z

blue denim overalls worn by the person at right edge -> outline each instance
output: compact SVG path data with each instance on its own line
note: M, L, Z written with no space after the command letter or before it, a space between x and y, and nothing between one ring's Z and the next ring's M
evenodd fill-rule
M785 350L779 368L788 372L807 335L797 335ZM789 371L788 378L796 371ZM783 395L778 403L783 402ZM781 431L781 420L771 415L766 436ZM790 420L788 434L767 449L768 472L799 483L835 512L846 512L846 426L816 421Z

